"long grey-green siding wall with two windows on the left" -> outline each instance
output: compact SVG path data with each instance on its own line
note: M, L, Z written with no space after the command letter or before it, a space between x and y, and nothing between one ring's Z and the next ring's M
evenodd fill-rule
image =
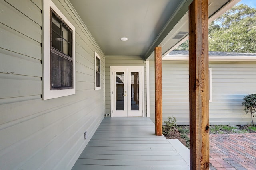
M104 117L104 54L69 2L53 2L76 28L76 94L49 100L41 98L42 1L0 2L1 170L71 169Z

